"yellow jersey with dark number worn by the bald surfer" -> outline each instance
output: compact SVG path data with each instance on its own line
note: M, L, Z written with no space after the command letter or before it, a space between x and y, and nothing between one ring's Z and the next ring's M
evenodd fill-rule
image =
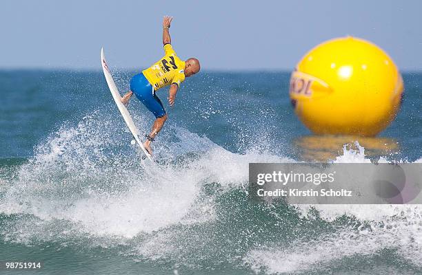
M160 61L142 71L145 78L154 87L154 91L172 83L180 87L180 83L185 80L185 62L176 55L171 44L164 45L164 54Z

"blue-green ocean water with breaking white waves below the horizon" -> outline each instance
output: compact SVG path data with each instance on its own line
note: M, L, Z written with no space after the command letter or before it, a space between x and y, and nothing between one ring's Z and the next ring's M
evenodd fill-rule
M121 92L132 74L114 68ZM250 162L422 162L422 74L403 74L401 111L373 138L312 135L289 77L188 79L165 103L151 166L101 72L0 71L0 261L43 261L0 273L422 274L421 206L268 205L246 193ZM136 98L129 109L149 131Z

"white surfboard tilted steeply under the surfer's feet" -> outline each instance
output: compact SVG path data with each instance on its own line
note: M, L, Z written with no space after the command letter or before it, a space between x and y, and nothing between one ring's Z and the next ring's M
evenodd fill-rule
M101 48L101 65L103 66L103 72L104 72L104 76L106 76L108 88L110 89L110 91L112 93L114 102L116 102L116 104L117 104L117 108L119 108L119 111L120 111L121 115L123 116L123 120L125 120L126 125L128 125L130 133L132 133L134 140L136 140L139 147L141 147L143 153L145 153L145 155L148 157L148 159L150 159L151 162L154 162L152 160L152 156L150 155L150 153L148 153L148 151L146 151L145 148L143 147L141 139L139 138L139 130L135 126L128 109L126 109L125 105L120 101L121 96L119 94L119 90L116 87L116 84L114 83L114 80L113 80L112 75L110 73L110 69L108 69L108 65L107 65L106 57L104 56L103 48Z

